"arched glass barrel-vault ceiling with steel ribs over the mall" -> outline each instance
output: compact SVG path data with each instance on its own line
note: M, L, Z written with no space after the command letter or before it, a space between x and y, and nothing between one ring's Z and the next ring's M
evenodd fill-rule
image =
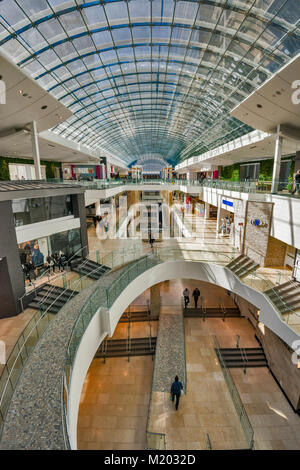
M251 130L229 112L300 50L300 0L3 0L0 46L74 115L54 132L176 164Z

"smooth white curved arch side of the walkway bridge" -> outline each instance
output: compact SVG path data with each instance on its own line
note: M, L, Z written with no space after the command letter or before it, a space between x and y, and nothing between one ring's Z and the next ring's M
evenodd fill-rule
M160 263L128 284L109 309L109 316L108 312L105 313L103 309L100 309L94 315L82 337L72 369L69 392L68 431L72 449L77 448L77 416L85 375L106 332L109 336L113 335L124 310L146 289L159 282L178 279L178 276L181 279L197 279L216 284L240 295L260 309L260 321L289 346L299 339L298 335L281 320L267 298L260 292L242 284L241 280L229 269L201 262L168 261ZM178 292L178 305L180 305L181 295L182 293Z

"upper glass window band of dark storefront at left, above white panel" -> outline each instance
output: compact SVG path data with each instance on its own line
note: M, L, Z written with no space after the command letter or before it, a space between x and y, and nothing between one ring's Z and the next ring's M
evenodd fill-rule
M70 195L17 199L12 208L16 227L73 215Z

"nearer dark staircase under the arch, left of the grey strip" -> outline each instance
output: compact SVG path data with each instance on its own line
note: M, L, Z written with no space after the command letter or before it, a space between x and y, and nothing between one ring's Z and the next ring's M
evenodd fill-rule
M95 358L124 357L124 356L153 356L156 349L156 337L128 339L108 339L102 343Z

